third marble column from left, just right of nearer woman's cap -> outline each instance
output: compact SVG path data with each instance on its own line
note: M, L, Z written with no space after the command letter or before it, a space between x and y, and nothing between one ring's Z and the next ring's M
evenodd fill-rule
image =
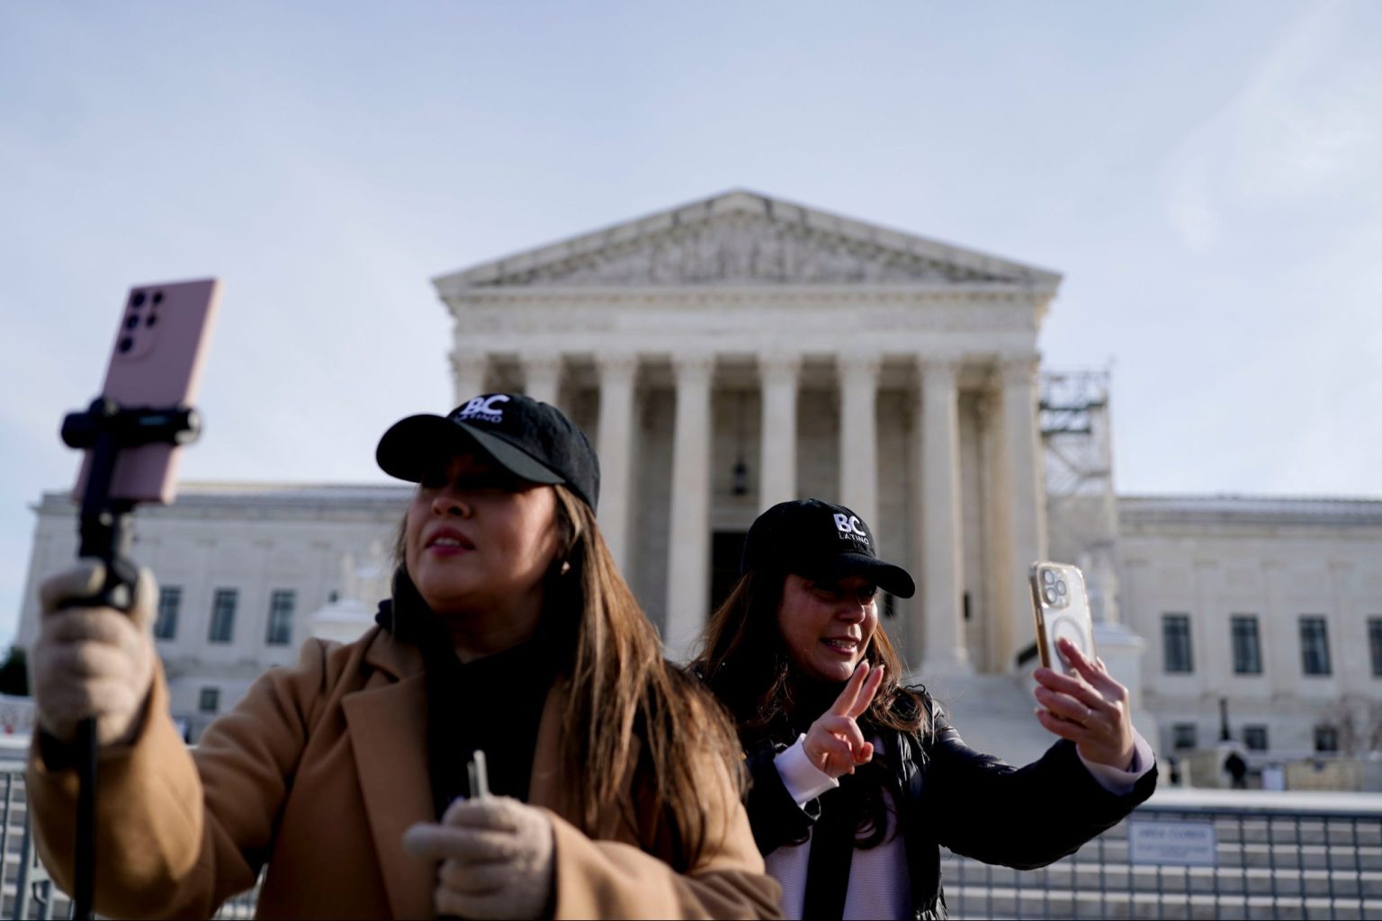
M633 384L637 355L601 355L600 371L600 532L619 572L629 566L629 510L633 504Z

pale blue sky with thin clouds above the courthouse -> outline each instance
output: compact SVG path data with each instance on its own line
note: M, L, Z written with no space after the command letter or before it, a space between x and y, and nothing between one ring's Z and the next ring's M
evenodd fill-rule
M126 290L188 481L383 482L431 278L732 188L1064 275L1121 493L1382 498L1382 4L0 4L0 641Z

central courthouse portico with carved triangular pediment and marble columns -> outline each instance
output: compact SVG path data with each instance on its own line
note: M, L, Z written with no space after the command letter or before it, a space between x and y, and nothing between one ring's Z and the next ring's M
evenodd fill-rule
M674 655L712 606L716 534L813 494L918 574L894 632L930 674L1005 671L1030 634L1059 283L749 192L435 279L457 402L518 389L596 434L601 527Z

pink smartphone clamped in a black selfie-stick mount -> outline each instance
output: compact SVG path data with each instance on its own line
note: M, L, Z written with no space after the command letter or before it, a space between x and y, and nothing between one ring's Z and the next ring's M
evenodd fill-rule
M130 289L101 395L130 409L191 406L220 297L217 279ZM173 501L177 463L174 445L120 452L111 497L134 503ZM90 467L91 453L87 452L72 490L76 501L82 501L86 492Z

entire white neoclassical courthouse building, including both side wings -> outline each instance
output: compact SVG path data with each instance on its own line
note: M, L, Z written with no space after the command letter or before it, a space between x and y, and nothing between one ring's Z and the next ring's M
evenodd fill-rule
M1107 378L1039 366L1059 284L742 191L435 279L451 396L522 391L591 436L601 527L673 657L755 515L818 496L918 577L883 623L972 741L1028 757L1049 739L1024 678L1027 570L1057 558L1086 570L1100 649L1161 747L1213 744L1220 700L1251 748L1378 747L1382 501L1115 496ZM140 512L189 735L304 637L372 623L406 498L188 483ZM36 511L19 646L36 584L75 548L65 493Z

